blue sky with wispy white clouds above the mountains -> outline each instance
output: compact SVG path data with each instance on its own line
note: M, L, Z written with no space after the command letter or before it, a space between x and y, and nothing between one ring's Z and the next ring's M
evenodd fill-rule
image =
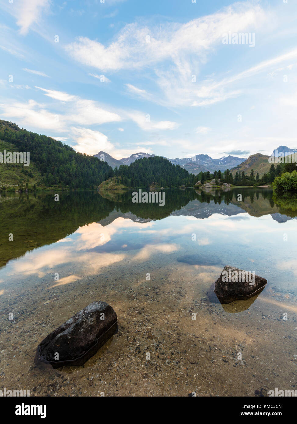
M0 0L0 118L116 159L297 148L296 22L295 0Z

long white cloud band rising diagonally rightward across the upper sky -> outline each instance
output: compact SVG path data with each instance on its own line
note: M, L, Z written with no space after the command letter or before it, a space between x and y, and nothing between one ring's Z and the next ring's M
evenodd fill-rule
M159 26L128 24L106 47L87 37L78 37L65 48L75 60L101 70L142 68L170 59L180 73L184 73L189 70L186 55L203 55L212 45L221 42L222 34L230 28L233 32L243 31L264 18L260 6L236 3L185 24L169 23L162 30Z

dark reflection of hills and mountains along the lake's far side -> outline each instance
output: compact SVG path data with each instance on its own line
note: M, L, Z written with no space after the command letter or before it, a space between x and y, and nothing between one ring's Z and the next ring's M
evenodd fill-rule
M132 203L132 192L61 192L54 201L53 193L3 193L0 195L0 266L32 249L55 243L80 226L98 222L109 225L122 217L134 222L150 222L168 216L192 216L199 219L214 214L233 220L248 215L271 215L284 223L297 217L297 196L276 198L272 190L238 188L227 192L215 190L165 190L165 205ZM237 201L237 195L242 201ZM14 242L8 234L14 234Z

